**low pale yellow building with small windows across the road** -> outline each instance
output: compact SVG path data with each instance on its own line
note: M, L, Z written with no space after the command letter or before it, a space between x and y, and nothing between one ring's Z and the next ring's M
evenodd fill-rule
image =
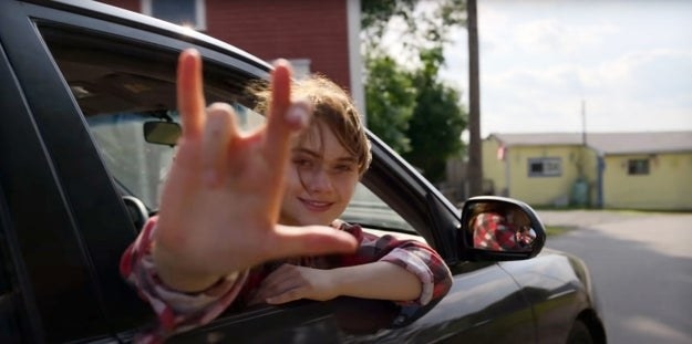
M692 210L692 132L490 134L483 168L535 206Z

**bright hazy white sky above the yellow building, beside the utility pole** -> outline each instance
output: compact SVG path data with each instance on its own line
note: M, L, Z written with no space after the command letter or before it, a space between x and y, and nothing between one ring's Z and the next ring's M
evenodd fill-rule
M692 131L692 1L477 3L482 137ZM442 76L468 108L466 30L453 41Z

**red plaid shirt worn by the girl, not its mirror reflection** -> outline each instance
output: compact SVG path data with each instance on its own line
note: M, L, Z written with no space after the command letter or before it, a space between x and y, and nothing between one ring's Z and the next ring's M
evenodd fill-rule
M428 246L414 240L397 240L392 236L376 237L364 232L360 226L334 221L332 227L344 230L358 239L360 246L352 254L302 257L269 262L249 271L220 279L199 293L182 293L166 288L156 273L152 260L152 238L156 217L144 226L138 238L121 259L121 274L133 284L140 296L148 301L158 316L155 329L135 337L140 343L158 343L167 336L209 323L227 307L242 309L262 280L282 263L314 269L352 267L375 261L386 261L415 274L422 284L416 300L396 302L402 305L397 322L406 314L442 299L452 286L452 274L444 260ZM405 314L404 314L405 313Z

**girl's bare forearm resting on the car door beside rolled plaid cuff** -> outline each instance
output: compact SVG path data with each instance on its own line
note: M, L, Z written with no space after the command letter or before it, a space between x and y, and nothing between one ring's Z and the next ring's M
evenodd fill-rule
M396 264L378 261L331 270L333 283L343 296L412 301L419 299L419 278Z

